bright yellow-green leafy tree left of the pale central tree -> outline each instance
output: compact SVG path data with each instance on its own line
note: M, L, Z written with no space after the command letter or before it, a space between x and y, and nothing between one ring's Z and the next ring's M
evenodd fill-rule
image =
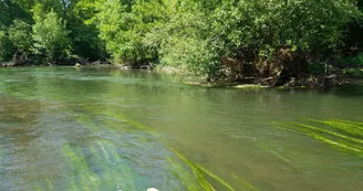
M97 22L100 36L115 62L138 64L153 61L155 49L143 42L149 24L157 17L144 11L148 1L106 1L98 7Z

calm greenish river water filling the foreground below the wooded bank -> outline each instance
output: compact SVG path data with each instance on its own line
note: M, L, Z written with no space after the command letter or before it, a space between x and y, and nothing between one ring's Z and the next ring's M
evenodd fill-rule
M313 120L335 119L356 124L355 145L279 125L321 132L326 123ZM0 190L363 190L362 121L361 86L205 88L149 71L0 68Z

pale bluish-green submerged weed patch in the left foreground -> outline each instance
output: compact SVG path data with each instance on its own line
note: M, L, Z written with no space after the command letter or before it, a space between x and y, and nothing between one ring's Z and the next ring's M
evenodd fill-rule
M102 184L112 182L114 187L118 184L123 190L135 191L133 170L122 162L121 156L116 152L114 145L107 141L96 141L89 147L90 157L96 159L94 166L101 167L102 173L96 174L89 168L89 160L85 159L82 151L69 144L63 146L63 155L73 169L76 183L72 182L73 190L103 190ZM100 177L101 176L101 177ZM79 189L80 188L80 189Z

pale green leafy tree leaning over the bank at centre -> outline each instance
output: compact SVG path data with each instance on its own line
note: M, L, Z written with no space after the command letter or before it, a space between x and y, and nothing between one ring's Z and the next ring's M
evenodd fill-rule
M199 7L204 3L206 7ZM164 12L167 17L159 20L147 34L147 43L158 47L162 64L184 67L201 76L211 77L218 74L219 51L210 39L211 25L205 12L214 6L214 1L210 4L207 1L165 4Z

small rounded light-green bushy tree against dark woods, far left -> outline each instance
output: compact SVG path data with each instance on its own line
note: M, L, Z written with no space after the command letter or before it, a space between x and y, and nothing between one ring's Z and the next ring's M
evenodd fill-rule
M34 12L34 53L45 55L48 61L66 57L70 54L70 39L63 20L53 11L44 18Z

